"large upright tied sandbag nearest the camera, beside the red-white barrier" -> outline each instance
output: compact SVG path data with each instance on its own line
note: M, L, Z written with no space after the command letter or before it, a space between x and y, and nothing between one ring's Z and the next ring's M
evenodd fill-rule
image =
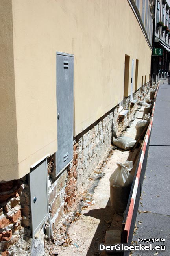
M132 161L117 163L117 168L111 174L110 181L110 200L111 206L117 214L122 215L127 206L133 176L129 173L133 168Z

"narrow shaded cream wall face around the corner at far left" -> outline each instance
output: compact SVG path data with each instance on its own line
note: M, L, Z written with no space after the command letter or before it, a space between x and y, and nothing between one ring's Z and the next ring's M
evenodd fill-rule
M18 175L11 1L0 1L0 180Z

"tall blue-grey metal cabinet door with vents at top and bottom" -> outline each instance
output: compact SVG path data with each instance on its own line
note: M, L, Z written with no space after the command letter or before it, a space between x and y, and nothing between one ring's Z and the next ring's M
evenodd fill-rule
M57 54L57 174L73 157L74 56Z

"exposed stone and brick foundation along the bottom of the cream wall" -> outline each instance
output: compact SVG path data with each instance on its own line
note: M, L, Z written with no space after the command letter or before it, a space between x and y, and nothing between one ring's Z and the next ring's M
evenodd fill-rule
M138 101L149 83L134 93ZM55 228L63 212L75 202L77 193L92 171L105 159L111 149L113 130L119 136L129 124L137 102L124 100L129 112L119 118L118 106L74 138L73 161L55 177L55 154L48 158L48 200L52 227ZM30 229L30 192L28 176L0 184L0 250L5 255L44 255L44 228L35 238Z

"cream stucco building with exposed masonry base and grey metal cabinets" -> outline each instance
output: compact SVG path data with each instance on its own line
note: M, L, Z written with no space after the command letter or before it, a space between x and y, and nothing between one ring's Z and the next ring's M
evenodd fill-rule
M2 255L43 255L42 225L130 122L151 79L154 3L0 1Z

